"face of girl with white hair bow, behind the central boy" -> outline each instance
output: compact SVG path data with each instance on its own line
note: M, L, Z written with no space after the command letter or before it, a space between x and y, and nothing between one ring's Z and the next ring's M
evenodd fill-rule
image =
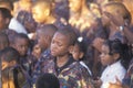
M82 58L82 52L80 51L79 46L75 44L73 47L73 52L72 52L72 56L75 61L79 61L80 58Z

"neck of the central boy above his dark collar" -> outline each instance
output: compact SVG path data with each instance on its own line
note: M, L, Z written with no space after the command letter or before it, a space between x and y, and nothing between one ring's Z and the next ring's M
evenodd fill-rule
M57 65L58 65L58 67L64 66L68 63L68 61L69 61L69 55L57 57Z

